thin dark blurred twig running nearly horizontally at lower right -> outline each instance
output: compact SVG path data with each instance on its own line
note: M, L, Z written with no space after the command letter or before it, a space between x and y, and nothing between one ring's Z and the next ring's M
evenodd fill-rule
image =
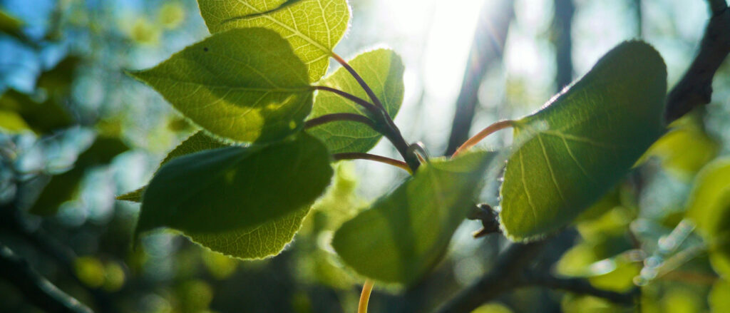
M579 295L593 295L594 297L604 298L615 304L632 305L636 301L638 288L631 290L629 293L616 293L608 290L601 290L593 287L590 282L582 278L558 278L552 275L529 273L526 274L526 284L547 287L550 289L559 289L577 293Z

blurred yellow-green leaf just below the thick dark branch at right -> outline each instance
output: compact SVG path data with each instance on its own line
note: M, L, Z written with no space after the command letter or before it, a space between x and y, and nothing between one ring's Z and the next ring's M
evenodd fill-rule
M701 120L687 115L672 123L672 130L648 150L647 155L661 158L662 166L680 177L691 178L704 164L710 162L720 145L702 129Z

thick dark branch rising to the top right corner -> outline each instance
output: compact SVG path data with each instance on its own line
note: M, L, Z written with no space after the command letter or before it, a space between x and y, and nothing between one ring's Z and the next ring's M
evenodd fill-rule
M712 77L730 53L730 9L725 0L707 0L712 18L707 23L699 53L666 98L666 123L712 101Z

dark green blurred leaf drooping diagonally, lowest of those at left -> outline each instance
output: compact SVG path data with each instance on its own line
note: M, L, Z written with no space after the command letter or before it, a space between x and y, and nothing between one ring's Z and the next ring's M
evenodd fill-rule
M127 150L129 147L118 138L97 136L93 144L79 155L72 169L51 177L28 212L34 215L54 215L64 201L77 193L87 169L110 163L115 156Z

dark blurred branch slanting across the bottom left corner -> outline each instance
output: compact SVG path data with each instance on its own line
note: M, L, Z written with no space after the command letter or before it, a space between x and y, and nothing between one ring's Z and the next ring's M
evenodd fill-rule
M20 290L26 299L46 312L92 313L91 309L67 295L34 271L26 260L0 244L0 277Z

